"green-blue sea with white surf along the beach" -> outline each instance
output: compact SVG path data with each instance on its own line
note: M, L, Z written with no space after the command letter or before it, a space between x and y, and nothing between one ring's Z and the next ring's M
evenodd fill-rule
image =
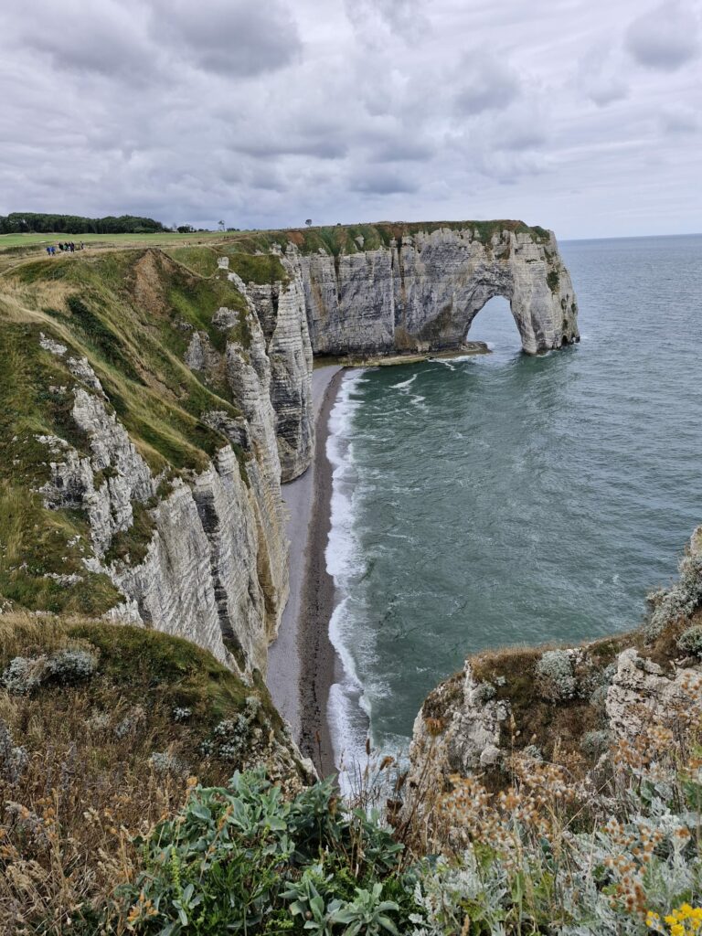
M406 746L485 647L631 627L702 522L702 236L570 241L580 344L356 372L331 418L338 753Z

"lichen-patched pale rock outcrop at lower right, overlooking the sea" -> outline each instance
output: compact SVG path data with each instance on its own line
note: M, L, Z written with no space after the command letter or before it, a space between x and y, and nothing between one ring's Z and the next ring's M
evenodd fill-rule
M663 595L684 600L662 628L565 649L477 654L428 696L414 725L410 785L428 759L434 775L497 771L514 753L596 763L610 743L635 742L654 725L688 724L702 711L702 528ZM661 595L655 596L660 606ZM690 653L685 635L697 635Z

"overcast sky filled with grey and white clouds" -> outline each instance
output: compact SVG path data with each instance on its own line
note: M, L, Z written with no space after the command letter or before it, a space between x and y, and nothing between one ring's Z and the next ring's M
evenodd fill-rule
M0 214L702 230L702 0L2 0Z

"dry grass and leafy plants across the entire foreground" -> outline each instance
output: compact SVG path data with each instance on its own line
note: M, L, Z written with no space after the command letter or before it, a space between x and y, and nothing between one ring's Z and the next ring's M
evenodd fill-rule
M680 645L696 658L699 605L646 644L658 659ZM532 697L567 707L578 681L557 653L538 652L547 663ZM485 771L446 776L439 714L425 712L434 733L418 774L407 782L384 758L355 803L330 782L302 788L265 690L183 640L0 618L0 673L7 931L702 929L698 667L664 707L635 706L636 734L607 736L587 769L557 744L548 757L523 747L512 721L499 787ZM391 826L369 810L388 790Z

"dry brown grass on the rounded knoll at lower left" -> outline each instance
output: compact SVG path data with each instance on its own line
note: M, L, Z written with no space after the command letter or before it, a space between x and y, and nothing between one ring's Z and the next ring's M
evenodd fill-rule
M188 774L219 785L248 766L246 758L233 764L200 749L247 696L262 700L266 736L251 762L277 756L278 769L296 782L295 763L281 759L282 725L265 690L244 686L205 651L124 625L0 617L0 672L18 655L65 648L96 654L96 675L27 695L0 687L2 933L98 931L91 907L109 903L114 886L134 875L139 836L183 805ZM190 717L174 718L185 708ZM154 768L154 752L169 755L169 769Z

